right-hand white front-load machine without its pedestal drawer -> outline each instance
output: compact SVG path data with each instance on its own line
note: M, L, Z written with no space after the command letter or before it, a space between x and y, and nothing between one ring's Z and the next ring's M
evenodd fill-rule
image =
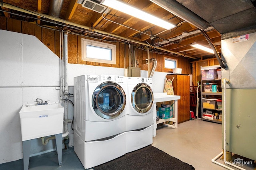
M152 78L126 77L126 131L141 129L153 122Z

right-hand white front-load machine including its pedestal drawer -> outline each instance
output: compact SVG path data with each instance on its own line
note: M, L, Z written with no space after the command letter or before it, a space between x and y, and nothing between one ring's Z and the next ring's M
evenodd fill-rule
M127 77L126 153L153 142L152 78Z

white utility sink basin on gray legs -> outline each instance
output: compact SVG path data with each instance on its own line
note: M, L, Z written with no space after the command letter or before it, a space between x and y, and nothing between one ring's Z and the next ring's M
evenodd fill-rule
M63 132L64 107L59 103L27 104L20 110L22 141Z

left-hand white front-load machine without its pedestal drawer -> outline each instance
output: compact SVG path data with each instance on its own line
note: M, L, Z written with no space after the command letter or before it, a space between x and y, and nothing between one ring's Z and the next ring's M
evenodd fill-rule
M125 131L126 79L113 75L74 78L74 129L84 141Z

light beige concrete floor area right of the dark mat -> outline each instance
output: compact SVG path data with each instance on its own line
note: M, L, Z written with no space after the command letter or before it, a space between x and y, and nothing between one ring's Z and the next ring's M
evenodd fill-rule
M211 161L222 152L222 125L218 123L198 119L180 123L178 129L160 126L152 146L192 165L196 170L226 169ZM216 161L224 165L222 160ZM253 164L241 168L254 170Z

